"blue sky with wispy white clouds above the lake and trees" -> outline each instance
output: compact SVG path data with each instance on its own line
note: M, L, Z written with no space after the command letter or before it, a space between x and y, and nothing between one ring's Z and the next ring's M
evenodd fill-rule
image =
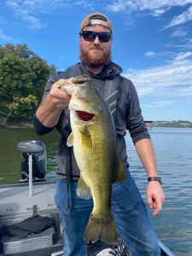
M64 71L79 62L79 27L95 11L113 23L113 62L144 119L192 121L192 0L1 0L0 44L26 44Z

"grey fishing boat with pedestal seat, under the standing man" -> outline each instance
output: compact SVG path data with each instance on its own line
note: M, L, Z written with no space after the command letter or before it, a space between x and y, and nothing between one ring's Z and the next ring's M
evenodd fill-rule
M7 234L0 236L0 256L61 256L64 243L59 212L54 201L56 183L55 181L44 181L44 177L38 178L39 180L32 177L32 154L37 154L38 160L46 160L46 157L43 157L43 155L46 156L44 145L28 141L18 143L17 148L22 154L28 155L28 170L23 171L21 168L21 171L26 172L22 175L25 174L29 180L26 182L26 178L23 177L23 183L0 186L0 230L32 216L51 218L54 224L40 233L30 233L29 236L22 238ZM41 164L41 166L44 165ZM159 243L161 256L174 256L162 242L159 241ZM102 241L88 244L87 252L89 256L129 255L120 238L117 245L113 246Z

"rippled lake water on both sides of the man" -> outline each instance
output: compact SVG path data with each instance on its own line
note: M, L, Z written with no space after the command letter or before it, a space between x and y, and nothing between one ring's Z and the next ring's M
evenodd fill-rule
M152 128L149 130L157 159L166 200L154 217L148 209L158 238L176 256L192 255L192 129ZM60 139L57 131L43 137L32 129L0 130L0 184L18 183L20 153L16 145L40 140L46 145L47 180L55 179L56 149ZM147 175L138 159L129 135L126 136L130 171L146 201Z

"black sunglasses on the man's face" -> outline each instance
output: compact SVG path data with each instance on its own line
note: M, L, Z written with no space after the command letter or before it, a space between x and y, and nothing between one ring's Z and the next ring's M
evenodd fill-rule
M94 42L96 39L96 36L98 36L99 41L101 43L107 43L110 41L111 38L113 38L112 33L109 32L93 32L93 31L82 31L79 32L80 36L83 36L85 41Z

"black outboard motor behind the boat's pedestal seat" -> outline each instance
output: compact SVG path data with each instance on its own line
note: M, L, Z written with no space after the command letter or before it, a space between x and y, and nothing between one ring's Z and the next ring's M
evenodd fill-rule
M44 177L47 172L47 156L46 148L44 143L41 141L27 141L27 143L37 144L42 147L42 151L38 153L32 153L32 182L45 181ZM21 168L20 183L26 183L29 181L29 163L28 163L28 153L21 153Z

